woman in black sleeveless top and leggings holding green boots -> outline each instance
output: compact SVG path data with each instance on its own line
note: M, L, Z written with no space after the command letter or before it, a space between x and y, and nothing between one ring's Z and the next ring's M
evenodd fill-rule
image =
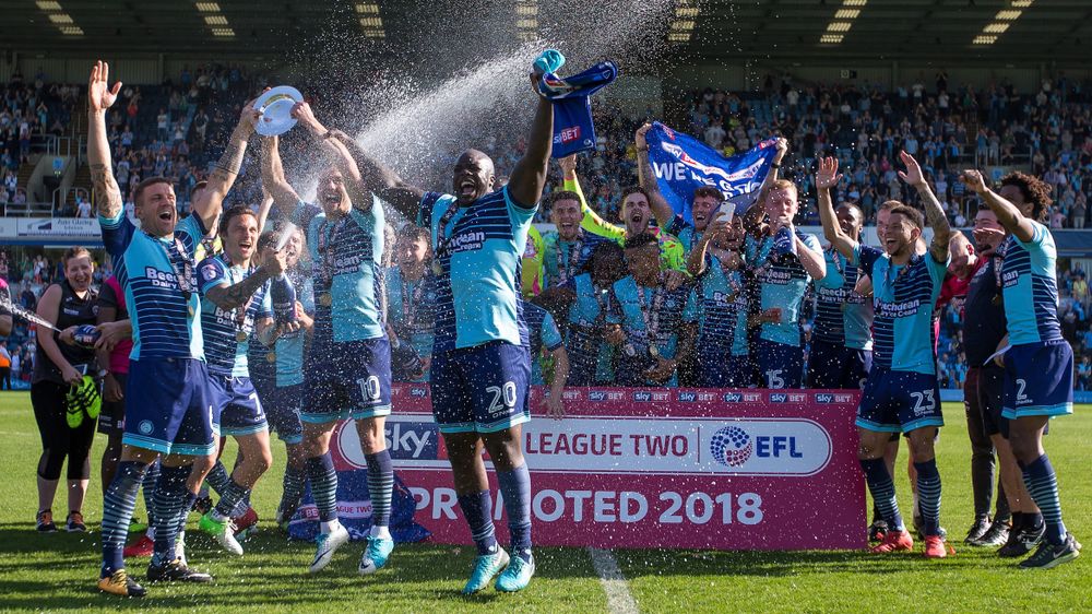
M31 383L31 404L41 436L36 517L40 532L57 530L51 508L66 459L69 505L66 529L69 532L87 530L82 510L91 476L88 459L95 421L85 420L83 410L70 415L67 398L71 387L83 385L85 375L94 375L95 352L72 345L70 327L95 324L94 308L98 296L91 291L94 269L91 252L82 247L70 248L64 252L63 262L64 280L46 288L38 300L38 316L63 332L38 330Z

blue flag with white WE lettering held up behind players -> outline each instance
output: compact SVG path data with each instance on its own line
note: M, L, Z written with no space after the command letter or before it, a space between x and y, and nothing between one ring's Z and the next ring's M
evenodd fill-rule
M705 143L658 121L652 125L645 141L664 200L687 222L691 221L693 191L702 186L721 190L724 200L735 203L737 215L750 209L778 154L776 141L770 139L746 153L724 157Z

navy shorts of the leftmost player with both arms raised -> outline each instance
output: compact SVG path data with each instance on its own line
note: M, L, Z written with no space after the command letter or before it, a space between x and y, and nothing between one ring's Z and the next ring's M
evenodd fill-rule
M129 363L126 432L121 442L162 454L206 457L216 451L209 369L194 358Z

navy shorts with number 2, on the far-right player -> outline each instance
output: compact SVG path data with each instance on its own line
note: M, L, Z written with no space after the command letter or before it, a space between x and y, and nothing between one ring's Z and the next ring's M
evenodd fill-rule
M1005 409L1009 420L1073 413L1073 350L1065 340L1013 345L1005 353Z

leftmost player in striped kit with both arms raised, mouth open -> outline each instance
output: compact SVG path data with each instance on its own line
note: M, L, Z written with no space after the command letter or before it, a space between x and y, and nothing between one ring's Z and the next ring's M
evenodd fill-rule
M132 320L133 350L126 385L126 432L121 461L106 492L103 509L103 565L98 588L121 597L145 590L127 574L122 547L150 462L162 457L153 500L155 552L147 579L209 581L175 554L175 540L212 467L217 433L201 335L193 255L205 229L219 215L224 197L242 165L257 111L248 103L209 185L193 202L193 214L179 222L171 181L151 177L134 192L138 229L124 214L114 178L106 111L121 83L108 82L109 67L98 62L87 87L87 158L103 243L115 263ZM198 459L200 462L194 462Z

